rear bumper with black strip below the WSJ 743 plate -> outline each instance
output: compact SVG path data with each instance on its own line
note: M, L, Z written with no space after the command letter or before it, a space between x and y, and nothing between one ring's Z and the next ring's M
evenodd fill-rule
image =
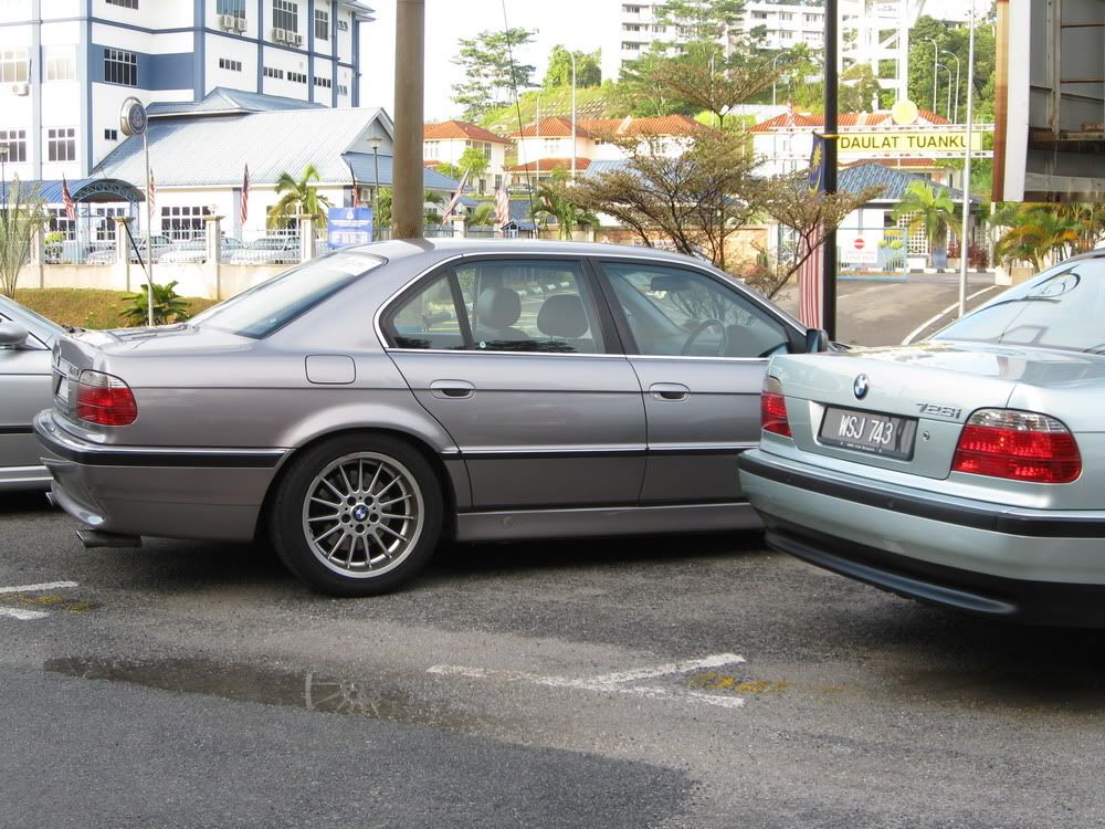
M1105 627L1105 515L1012 511L827 478L754 450L740 482L770 546L922 601Z

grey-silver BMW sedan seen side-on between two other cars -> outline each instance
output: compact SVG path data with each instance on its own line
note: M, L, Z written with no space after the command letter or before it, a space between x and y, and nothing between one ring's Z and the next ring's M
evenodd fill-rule
M461 541L759 526L736 457L771 354L815 347L676 254L382 242L186 324L54 349L36 420L90 545L245 541L336 595Z

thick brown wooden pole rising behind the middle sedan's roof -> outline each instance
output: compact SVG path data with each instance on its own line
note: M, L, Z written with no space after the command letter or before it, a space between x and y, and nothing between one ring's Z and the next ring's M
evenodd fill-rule
M396 3L396 138L391 237L421 239L423 228L422 94L425 0Z

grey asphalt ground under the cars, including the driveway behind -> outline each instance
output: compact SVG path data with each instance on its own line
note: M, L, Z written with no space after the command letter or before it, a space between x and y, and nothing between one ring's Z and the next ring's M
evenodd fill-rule
M850 285L839 335L901 342L956 291ZM1102 633L755 533L457 545L335 600L263 545L72 531L0 496L6 827L1105 822Z

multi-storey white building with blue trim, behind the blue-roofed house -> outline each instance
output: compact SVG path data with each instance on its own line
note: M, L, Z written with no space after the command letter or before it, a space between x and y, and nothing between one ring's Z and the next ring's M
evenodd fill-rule
M4 0L0 147L7 175L81 178L125 138L119 109L217 87L358 106L354 0Z

